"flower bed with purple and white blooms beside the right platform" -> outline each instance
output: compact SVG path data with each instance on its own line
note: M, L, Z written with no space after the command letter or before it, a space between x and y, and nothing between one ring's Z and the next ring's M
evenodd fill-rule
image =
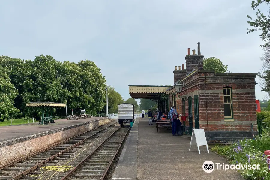
M269 149L270 137L256 135L255 140L245 139L230 146L214 146L211 150L227 158L231 164L260 164L259 170L239 170L243 178L270 180L270 158L263 153Z

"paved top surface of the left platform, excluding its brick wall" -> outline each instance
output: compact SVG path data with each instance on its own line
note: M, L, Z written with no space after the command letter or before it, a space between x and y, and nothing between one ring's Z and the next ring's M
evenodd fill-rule
M0 126L0 142L13 140L16 138L30 136L33 134L38 134L68 126L78 125L101 118L104 117L91 117L77 120L58 119L55 120L55 124L49 123L48 125L39 125L37 122L22 125Z

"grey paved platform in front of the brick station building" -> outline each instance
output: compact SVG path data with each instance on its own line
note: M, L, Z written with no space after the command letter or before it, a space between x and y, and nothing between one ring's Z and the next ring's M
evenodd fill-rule
M190 138L173 136L172 133L158 133L155 123L149 126L147 118L135 120L129 133L113 180L240 180L236 170L215 170L206 173L202 169L205 161L224 163L225 159L214 152L207 153L206 147L190 149Z

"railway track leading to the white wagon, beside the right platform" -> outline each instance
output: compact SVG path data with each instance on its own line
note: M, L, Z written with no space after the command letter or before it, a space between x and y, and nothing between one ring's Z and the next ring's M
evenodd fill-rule
M119 127L61 180L104 180L130 127Z

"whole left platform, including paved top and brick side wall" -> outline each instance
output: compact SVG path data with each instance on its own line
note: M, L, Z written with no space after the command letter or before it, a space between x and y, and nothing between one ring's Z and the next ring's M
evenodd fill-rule
M59 119L55 124L38 123L0 127L0 165L38 152L112 120L91 117L78 120Z

